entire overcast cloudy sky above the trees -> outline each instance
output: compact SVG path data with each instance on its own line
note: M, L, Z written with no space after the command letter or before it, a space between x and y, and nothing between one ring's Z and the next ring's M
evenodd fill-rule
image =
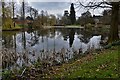
M14 1L20 4L22 0L14 0ZM54 14L54 15L58 15L58 14L63 15L64 10L68 10L68 12L70 12L70 4L75 3L76 1L77 0L25 0L25 2L27 2L30 6L37 9L39 13L41 12L41 10L44 10L44 11L47 11L48 14ZM89 0L87 1L81 0L81 1L87 3L87 1ZM90 0L90 1L93 1L93 0ZM100 1L100 0L97 0L97 1ZM74 7L76 6L74 5ZM87 10L83 8L77 8L75 9L75 11L76 11L76 16L80 17L81 14ZM90 10L92 15L101 15L102 11L103 9Z

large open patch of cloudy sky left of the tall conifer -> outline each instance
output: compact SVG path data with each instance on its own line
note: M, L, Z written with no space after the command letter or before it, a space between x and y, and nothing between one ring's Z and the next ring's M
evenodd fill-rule
M30 2L32 7L36 8L41 12L41 10L47 11L48 14L60 14L63 15L64 10L69 10L70 3L68 2Z

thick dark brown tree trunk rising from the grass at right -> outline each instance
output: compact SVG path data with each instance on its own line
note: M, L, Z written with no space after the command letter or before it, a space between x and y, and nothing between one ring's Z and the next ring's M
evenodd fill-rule
M118 13L119 13L119 3L113 2L112 3L112 15L111 15L111 26L110 26L110 33L108 42L111 43L113 41L117 41L119 39L118 36Z

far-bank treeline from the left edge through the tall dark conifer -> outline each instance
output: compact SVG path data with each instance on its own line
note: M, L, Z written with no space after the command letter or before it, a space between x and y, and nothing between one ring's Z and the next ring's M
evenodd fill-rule
M53 25L72 25L76 23L75 10L73 3L70 7L70 14L65 11L64 15L48 14L47 11L39 11L26 2L17 6L16 2L2 2L2 26L3 28L15 27L15 21L25 24L28 22L33 27L53 26Z

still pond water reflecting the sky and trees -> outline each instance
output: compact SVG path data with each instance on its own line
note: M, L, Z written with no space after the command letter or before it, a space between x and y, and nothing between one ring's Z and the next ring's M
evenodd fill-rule
M2 47L14 49L17 54L16 64L31 64L36 60L66 62L74 57L74 54L84 54L89 48L100 48L98 39L90 42L93 31L85 31L74 28L39 29L20 32L4 31L2 34ZM97 37L97 36L96 36ZM98 41L98 43L97 43ZM93 45L93 43L95 43ZM27 57L25 60L23 53ZM22 57L20 57L22 56Z

